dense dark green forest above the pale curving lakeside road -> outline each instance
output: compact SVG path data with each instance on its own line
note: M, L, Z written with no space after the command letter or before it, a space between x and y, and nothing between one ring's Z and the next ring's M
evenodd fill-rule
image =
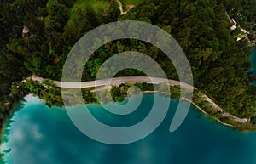
M94 1L97 5L91 3ZM252 46L247 38L236 41L241 30L230 30L233 24L225 11L250 31L250 40L255 40L254 7L253 0L142 0L128 14L120 15L114 0L2 0L0 119L3 122L13 103L29 92L38 93L49 105L62 105L61 93L55 92L56 88L45 89L36 82L25 85L21 81L32 74L61 80L62 66L75 42L97 26L117 20L145 21L170 33L189 59L195 87L224 110L252 117L256 89L250 85L247 73ZM148 54L161 65L168 78L178 80L172 62L158 48L129 39L99 48L85 65L83 80L94 80L106 59L130 50ZM125 70L117 76L142 74Z

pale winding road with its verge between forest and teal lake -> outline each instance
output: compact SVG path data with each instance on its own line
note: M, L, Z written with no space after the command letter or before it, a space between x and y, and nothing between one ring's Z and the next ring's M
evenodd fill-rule
M196 99L193 99L192 101L195 103L195 105L198 105L202 108L204 108L204 111L207 111L208 116L212 116L216 120L220 120L224 124L227 125L234 125L237 130L243 131L254 131L253 126L249 126L248 122L250 122L250 118L239 118L237 116L233 116L226 110L223 110L217 103L215 103L212 99L210 99L207 94L201 93L197 88L179 81L174 81L171 79L168 79L166 83L166 79L158 78L158 77L148 77L148 76L122 76L122 77L114 77L111 79L101 79L97 81L89 81L89 82L59 82L59 81L52 81L49 79L44 79L42 77L38 76L32 76L31 80L34 82L39 82L41 85L45 85L45 81L50 82L51 85L55 84L55 87L57 88L63 88L64 91L67 91L68 89L75 89L75 88L89 88L90 92L95 90L102 90L102 89L110 89L110 86L108 86L108 83L111 83L114 86L119 86L120 84L127 84L127 83L148 83L148 84L166 84L169 85L170 88L172 87L179 87L181 89L188 89L189 93L194 90L196 94L198 94ZM106 86L107 85L107 86ZM92 88L94 87L94 88ZM72 91L72 90L71 90ZM148 91L148 89L144 90ZM150 92L150 91L149 91ZM200 95L199 95L200 94ZM123 95L125 96L125 94ZM191 98L189 98L191 99ZM207 105L201 105L201 103L207 103ZM90 102L89 102L90 103ZM207 106L207 107L206 107ZM206 109L208 108L208 109ZM249 127L248 127L249 126Z

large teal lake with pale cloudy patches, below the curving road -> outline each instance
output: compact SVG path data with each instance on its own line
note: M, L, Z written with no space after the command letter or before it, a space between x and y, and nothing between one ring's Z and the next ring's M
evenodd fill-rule
M143 119L153 100L153 94L144 94L142 105L122 118L111 116L98 105L88 108L102 122L123 127ZM66 110L49 109L44 101L26 97L7 123L1 145L3 160L6 164L256 163L256 133L239 133L224 127L194 107L182 126L170 133L168 129L178 100L171 99L171 102L164 122L147 138L132 144L109 145L80 133ZM79 110L79 106L73 110Z

